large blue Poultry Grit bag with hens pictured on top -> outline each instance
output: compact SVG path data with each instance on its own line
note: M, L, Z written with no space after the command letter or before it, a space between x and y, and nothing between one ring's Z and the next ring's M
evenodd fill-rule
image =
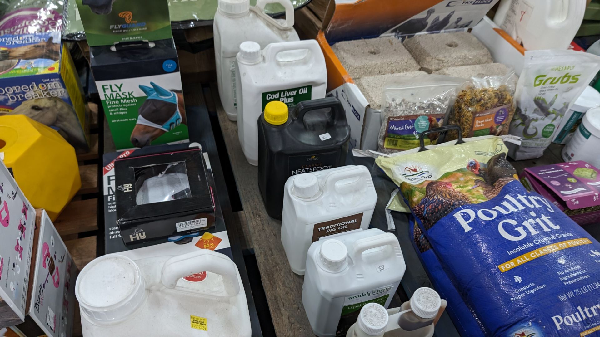
M596 335L600 243L521 185L502 139L454 143L376 163L484 334Z

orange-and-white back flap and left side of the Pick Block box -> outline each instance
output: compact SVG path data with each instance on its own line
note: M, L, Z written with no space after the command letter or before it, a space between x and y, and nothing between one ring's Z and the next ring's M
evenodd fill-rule
M361 38L396 37L400 40L417 34L466 31L475 26L497 0L335 0L329 4L322 31L317 35L327 65L328 96L338 97L350 125L350 145L377 150L381 127L377 103L365 98L346 68L332 50L339 41ZM377 55L373 56L377 58Z

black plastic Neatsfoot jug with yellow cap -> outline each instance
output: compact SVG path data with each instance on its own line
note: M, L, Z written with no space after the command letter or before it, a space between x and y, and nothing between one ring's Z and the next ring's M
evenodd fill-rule
M350 127L335 97L301 102L291 116L286 104L269 102L258 128L259 189L271 218L281 219L287 178L346 163Z

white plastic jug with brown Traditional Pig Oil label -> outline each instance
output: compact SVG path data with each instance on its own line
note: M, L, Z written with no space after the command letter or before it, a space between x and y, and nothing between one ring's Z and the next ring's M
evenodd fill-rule
M364 166L289 177L283 195L281 243L292 271L304 275L308 247L320 237L369 228L376 203L373 179Z

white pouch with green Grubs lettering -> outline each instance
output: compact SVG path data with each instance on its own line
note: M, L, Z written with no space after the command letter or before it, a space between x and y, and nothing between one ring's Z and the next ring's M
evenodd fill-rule
M565 112L600 70L600 56L574 50L528 50L524 62L509 131L523 138L520 146L509 145L514 160L542 157Z

